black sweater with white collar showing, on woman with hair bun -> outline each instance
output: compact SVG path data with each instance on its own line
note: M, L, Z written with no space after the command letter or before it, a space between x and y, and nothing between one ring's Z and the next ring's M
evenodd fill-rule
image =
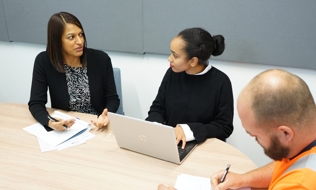
M233 116L233 90L225 73L212 67L203 75L189 75L170 67L146 120L173 127L187 124L201 143L206 138L228 138L233 132Z

